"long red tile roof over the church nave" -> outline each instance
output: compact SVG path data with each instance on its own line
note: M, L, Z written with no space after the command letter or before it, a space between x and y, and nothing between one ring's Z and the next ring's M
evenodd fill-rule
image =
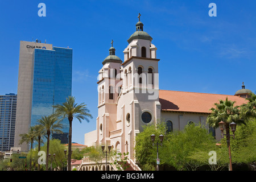
M163 111L181 111L191 113L209 113L214 103L219 100L236 101L234 104L242 105L247 102L245 98L223 94L180 92L172 90L159 90L159 102Z

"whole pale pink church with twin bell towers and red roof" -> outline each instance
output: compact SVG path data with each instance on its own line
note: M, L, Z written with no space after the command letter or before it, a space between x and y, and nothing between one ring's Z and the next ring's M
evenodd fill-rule
M129 152L134 160L135 137L144 125L166 122L168 131L182 130L189 123L206 125L209 109L220 99L246 102L240 96L160 90L158 84L157 48L143 31L143 23L127 40L124 61L115 56L115 48L102 62L98 84L98 117L96 130L85 134L86 146L112 146ZM206 127L208 127L206 125ZM220 139L219 130L210 129ZM164 135L164 134L163 134ZM150 136L148 136L150 138Z

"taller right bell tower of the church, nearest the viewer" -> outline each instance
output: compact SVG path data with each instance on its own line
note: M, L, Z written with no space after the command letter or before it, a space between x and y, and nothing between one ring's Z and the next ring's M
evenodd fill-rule
M157 48L144 31L144 24L135 24L136 31L127 40L122 65L122 92L117 110L121 110L123 123L122 152L134 158L135 137L144 125L156 125L160 119Z

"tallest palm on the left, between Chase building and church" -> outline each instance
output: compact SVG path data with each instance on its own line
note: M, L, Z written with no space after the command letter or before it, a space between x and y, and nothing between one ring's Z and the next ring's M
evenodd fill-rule
M82 119L85 119L89 122L88 118L92 118L92 115L89 114L84 103L77 105L75 103L75 97L69 96L67 101L63 105L55 105L55 114L58 117L68 118L69 121L69 133L68 133L68 171L71 171L71 147L72 147L72 121L73 118L77 118L81 123Z

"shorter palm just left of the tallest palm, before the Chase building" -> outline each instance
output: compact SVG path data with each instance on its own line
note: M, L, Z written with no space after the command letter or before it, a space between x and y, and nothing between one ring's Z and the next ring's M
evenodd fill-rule
M46 150L46 170L48 171L48 154L49 154L49 139L51 133L62 133L60 130L62 124L55 115L42 116L38 122L44 127L44 132L47 134L47 150Z

